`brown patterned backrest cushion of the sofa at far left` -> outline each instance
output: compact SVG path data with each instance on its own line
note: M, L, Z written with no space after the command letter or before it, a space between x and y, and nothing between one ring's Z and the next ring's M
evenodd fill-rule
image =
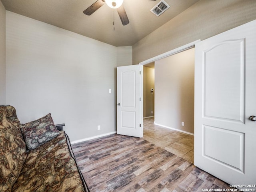
M12 106L0 106L0 191L10 191L26 160L26 144Z

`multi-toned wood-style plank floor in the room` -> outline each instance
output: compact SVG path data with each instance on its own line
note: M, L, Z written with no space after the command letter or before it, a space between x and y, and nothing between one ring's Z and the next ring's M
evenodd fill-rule
M194 192L225 182L143 138L110 135L72 145L91 192Z

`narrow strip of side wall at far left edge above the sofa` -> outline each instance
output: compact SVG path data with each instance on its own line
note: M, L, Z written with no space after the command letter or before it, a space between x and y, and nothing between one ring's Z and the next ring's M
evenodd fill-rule
M5 8L0 1L0 105L5 105Z

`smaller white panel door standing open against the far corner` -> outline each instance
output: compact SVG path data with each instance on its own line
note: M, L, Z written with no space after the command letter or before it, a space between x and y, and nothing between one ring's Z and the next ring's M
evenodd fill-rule
M142 66L117 68L117 134L143 137Z

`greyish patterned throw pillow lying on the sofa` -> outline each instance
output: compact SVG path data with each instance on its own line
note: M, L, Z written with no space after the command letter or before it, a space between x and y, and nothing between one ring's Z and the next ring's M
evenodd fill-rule
M37 148L59 134L50 113L38 120L21 124L21 131L29 150Z

